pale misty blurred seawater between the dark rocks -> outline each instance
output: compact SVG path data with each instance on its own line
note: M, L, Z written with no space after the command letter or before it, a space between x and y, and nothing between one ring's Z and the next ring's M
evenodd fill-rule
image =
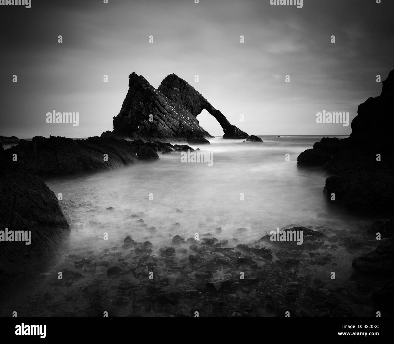
M330 205L323 195L329 175L320 167L297 166L297 156L320 136L261 138L264 143L211 139L211 145L200 146L213 153L211 166L182 163L180 152L174 152L160 154L154 163L45 180L56 195L63 194L59 203L71 226L63 250L81 255L89 249L119 247L127 235L137 241L149 239L158 249L171 245L176 234L186 239L195 232L247 244L291 223L305 227L328 223L351 232L375 220ZM318 216L321 213L327 217ZM156 227L156 233L149 227ZM217 227L221 234L215 233ZM238 228L247 232L239 234ZM103 240L104 232L108 241Z

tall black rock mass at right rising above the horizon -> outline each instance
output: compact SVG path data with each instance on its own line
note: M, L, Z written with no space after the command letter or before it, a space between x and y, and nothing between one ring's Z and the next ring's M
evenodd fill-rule
M394 70L382 82L381 95L359 105L349 138L322 138L302 152L299 165L320 165L335 174L326 179L327 199L335 194L350 210L391 214L394 200Z

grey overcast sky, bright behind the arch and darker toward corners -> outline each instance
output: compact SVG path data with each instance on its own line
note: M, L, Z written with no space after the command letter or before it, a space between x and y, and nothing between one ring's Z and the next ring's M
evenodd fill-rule
M351 121L361 102L380 94L376 75L384 80L394 69L394 1L382 2L304 0L297 8L269 0L32 0L30 9L0 6L0 135L87 137L112 130L133 71L156 88L177 74L248 134L349 134L350 125L317 124L316 113L345 111ZM79 112L79 126L47 124L53 110ZM208 113L197 119L210 134L223 134Z

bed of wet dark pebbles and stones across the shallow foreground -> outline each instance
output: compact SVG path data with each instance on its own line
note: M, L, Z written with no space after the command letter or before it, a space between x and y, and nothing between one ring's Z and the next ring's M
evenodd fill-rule
M336 250L362 253L375 247L368 233L349 237L329 222L315 229L288 225L284 229L304 232L305 245L277 242L267 248L269 236L252 244L218 240L221 228L201 233L199 240L182 238L176 223L166 244L157 246L152 242L160 234L140 216L130 218L147 234L144 241L128 235L99 251L60 252L46 273L35 276L23 302L4 307L1 315L12 307L18 307L19 316L392 315L389 285L369 287L357 276L346 283L327 279L340 263ZM392 245L392 239L366 257L384 254L385 245ZM370 264L374 269L378 263Z

